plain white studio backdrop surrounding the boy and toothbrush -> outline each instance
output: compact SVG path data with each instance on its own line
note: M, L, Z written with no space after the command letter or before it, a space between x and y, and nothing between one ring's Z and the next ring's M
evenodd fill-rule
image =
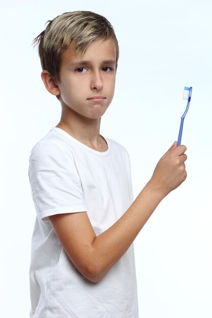
M128 149L134 197L177 139L184 86L193 86L182 138L188 178L135 241L139 310L142 318L211 318L211 0L1 0L0 6L1 316L28 317L35 221L28 157L60 117L31 43L47 20L89 10L108 18L119 41L116 92L101 133Z

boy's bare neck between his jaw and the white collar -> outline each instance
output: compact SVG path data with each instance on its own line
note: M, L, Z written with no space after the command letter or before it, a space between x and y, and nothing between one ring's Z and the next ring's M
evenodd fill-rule
M108 146L105 139L100 136L100 123L101 118L82 118L77 113L72 113L69 117L65 116L62 111L61 119L56 127L64 130L89 148L103 152L108 149Z

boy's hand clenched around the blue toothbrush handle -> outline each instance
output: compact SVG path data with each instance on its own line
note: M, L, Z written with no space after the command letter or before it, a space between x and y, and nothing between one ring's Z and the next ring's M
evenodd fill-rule
M185 161L187 155L186 146L180 145L177 147L175 141L171 148L162 156L158 162L149 184L152 185L160 195L167 196L172 190L177 188L186 180Z

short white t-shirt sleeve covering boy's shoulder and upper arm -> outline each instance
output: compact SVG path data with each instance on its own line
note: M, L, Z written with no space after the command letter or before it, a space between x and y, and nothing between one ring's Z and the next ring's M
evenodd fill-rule
M56 140L38 143L29 158L28 174L42 220L48 221L54 214L86 211L74 156L67 145Z

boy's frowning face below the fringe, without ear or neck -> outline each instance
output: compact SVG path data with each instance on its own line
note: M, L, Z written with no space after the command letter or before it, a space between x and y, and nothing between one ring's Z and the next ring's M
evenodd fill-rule
M62 107L86 118L100 118L113 98L115 59L112 39L95 40L81 57L70 44L60 63L58 88Z

